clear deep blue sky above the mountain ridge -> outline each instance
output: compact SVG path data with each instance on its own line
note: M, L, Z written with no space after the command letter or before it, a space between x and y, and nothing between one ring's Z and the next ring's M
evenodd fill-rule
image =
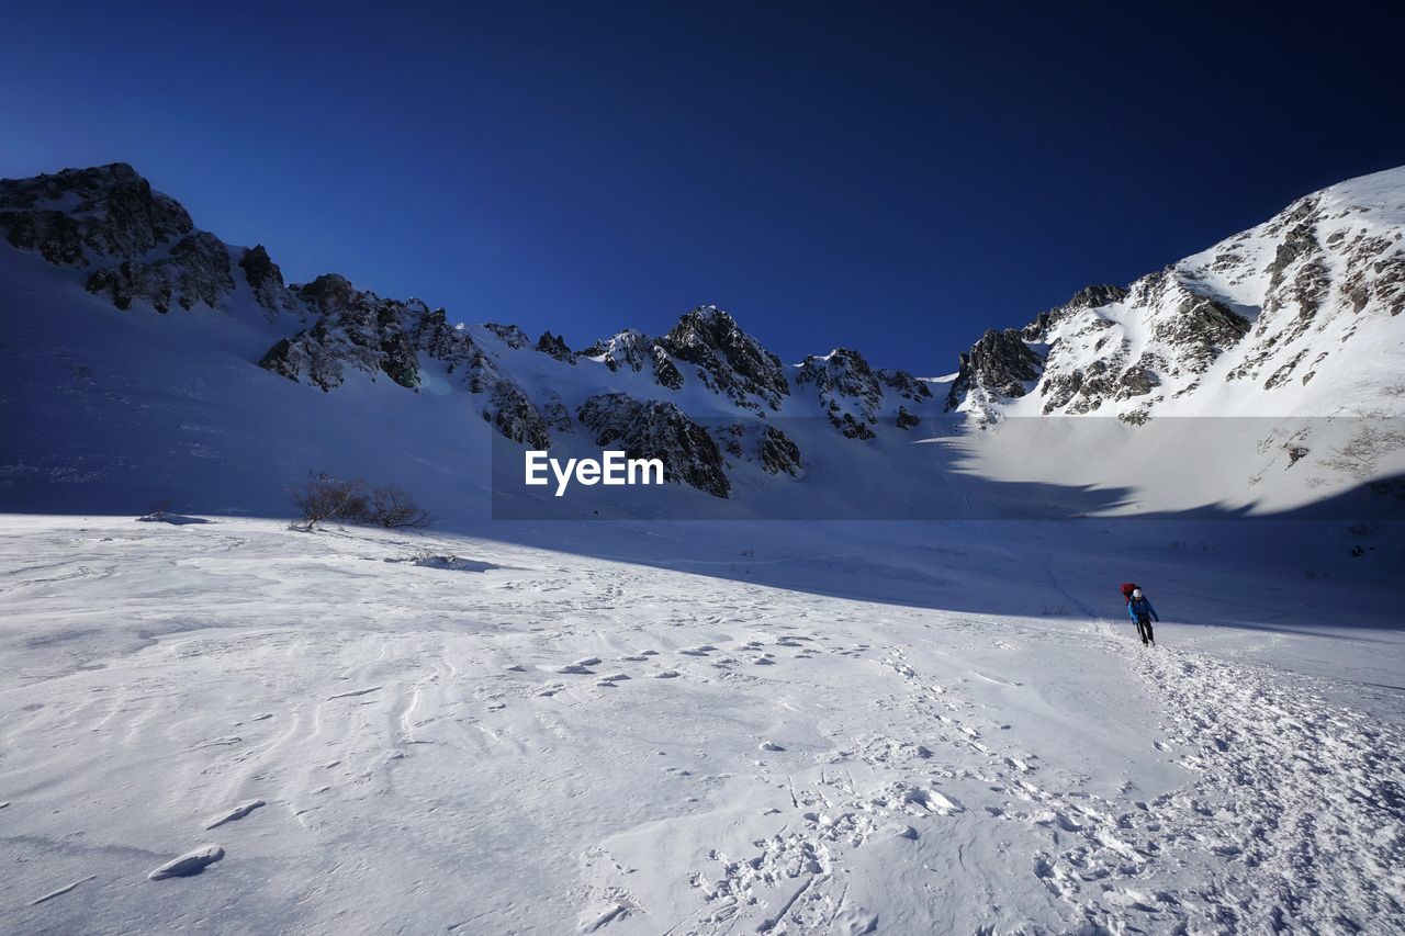
M1405 162L1367 6L969 6L11 0L0 176L125 160L289 281L575 346L712 302L937 374Z

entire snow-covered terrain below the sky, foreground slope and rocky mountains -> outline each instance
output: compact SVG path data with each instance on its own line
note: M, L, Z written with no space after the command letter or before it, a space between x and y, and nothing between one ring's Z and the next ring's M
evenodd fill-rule
M1401 932L1405 178L1309 201L953 379L711 306L534 342L126 166L0 183L3 928ZM523 503L527 446L677 483ZM289 528L309 471L437 523Z

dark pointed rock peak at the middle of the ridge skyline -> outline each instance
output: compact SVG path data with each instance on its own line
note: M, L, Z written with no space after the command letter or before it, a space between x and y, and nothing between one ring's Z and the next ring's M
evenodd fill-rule
M778 409L781 398L790 395L781 360L717 306L693 309L658 346L673 360L693 364L705 386L738 406Z

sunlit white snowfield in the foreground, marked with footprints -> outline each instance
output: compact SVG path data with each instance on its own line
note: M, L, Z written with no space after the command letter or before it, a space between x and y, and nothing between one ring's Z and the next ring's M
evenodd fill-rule
M0 930L1405 928L1398 614L1154 590L1144 651L1116 572L1020 547L1071 607L776 587L757 550L0 519Z

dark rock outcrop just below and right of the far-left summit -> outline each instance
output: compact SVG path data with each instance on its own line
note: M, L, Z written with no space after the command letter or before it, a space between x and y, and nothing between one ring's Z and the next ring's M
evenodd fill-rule
M177 240L164 259L124 260L98 270L89 275L84 288L107 295L119 309L131 308L132 299L145 299L164 313L173 301L183 309L197 302L218 308L233 291L235 280L229 250L215 235L201 230Z

